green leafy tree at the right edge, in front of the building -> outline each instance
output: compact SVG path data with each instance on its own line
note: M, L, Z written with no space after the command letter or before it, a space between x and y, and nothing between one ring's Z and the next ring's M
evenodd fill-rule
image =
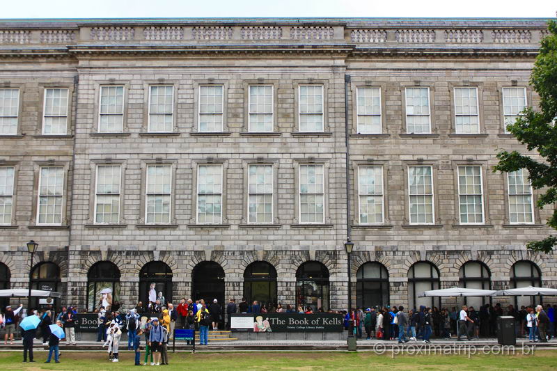
M557 202L557 22L549 22L548 29L550 33L541 42L530 79L531 86L540 96L539 109L524 109L515 123L507 127L528 151L538 152L541 159L538 161L517 151L503 150L497 154L499 164L494 167L494 171L505 173L526 168L533 189L546 188L538 198L540 209ZM547 225L557 229L557 210ZM528 242L526 246L533 251L549 253L556 244L557 237L549 235L541 241Z

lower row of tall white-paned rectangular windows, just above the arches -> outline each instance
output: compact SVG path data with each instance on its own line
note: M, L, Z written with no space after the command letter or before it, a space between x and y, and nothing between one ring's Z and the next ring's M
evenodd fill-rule
M223 221L223 166L204 164L197 168L196 221L220 224ZM324 223L325 169L322 164L300 164L298 202L300 223ZM484 189L481 166L457 167L459 215L461 224L485 223ZM97 165L94 222L120 222L120 165ZM64 194L64 168L42 166L39 173L37 223L61 225ZM145 221L171 223L172 166L148 165L146 170ZM384 223L384 174L382 166L358 167L358 205L360 224ZM15 168L0 167L0 224L10 225L14 196ZM248 168L248 223L274 221L274 168L252 164ZM434 224L434 182L432 166L408 167L409 223ZM524 169L508 173L510 223L533 223L533 194Z

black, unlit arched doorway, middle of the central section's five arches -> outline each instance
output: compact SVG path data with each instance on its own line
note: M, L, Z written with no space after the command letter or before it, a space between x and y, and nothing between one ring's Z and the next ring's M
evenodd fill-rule
M191 272L191 299L203 299L207 306L214 299L224 307L224 270L217 262L200 262Z

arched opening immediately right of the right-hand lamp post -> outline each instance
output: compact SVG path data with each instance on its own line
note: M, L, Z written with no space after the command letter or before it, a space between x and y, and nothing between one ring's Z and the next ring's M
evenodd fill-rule
M379 262L366 262L356 272L358 308L389 305L389 272Z

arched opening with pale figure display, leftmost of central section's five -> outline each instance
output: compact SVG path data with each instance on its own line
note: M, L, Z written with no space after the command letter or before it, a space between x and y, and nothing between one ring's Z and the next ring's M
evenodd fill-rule
M120 298L120 269L113 262L96 262L87 274L87 309L111 306Z

